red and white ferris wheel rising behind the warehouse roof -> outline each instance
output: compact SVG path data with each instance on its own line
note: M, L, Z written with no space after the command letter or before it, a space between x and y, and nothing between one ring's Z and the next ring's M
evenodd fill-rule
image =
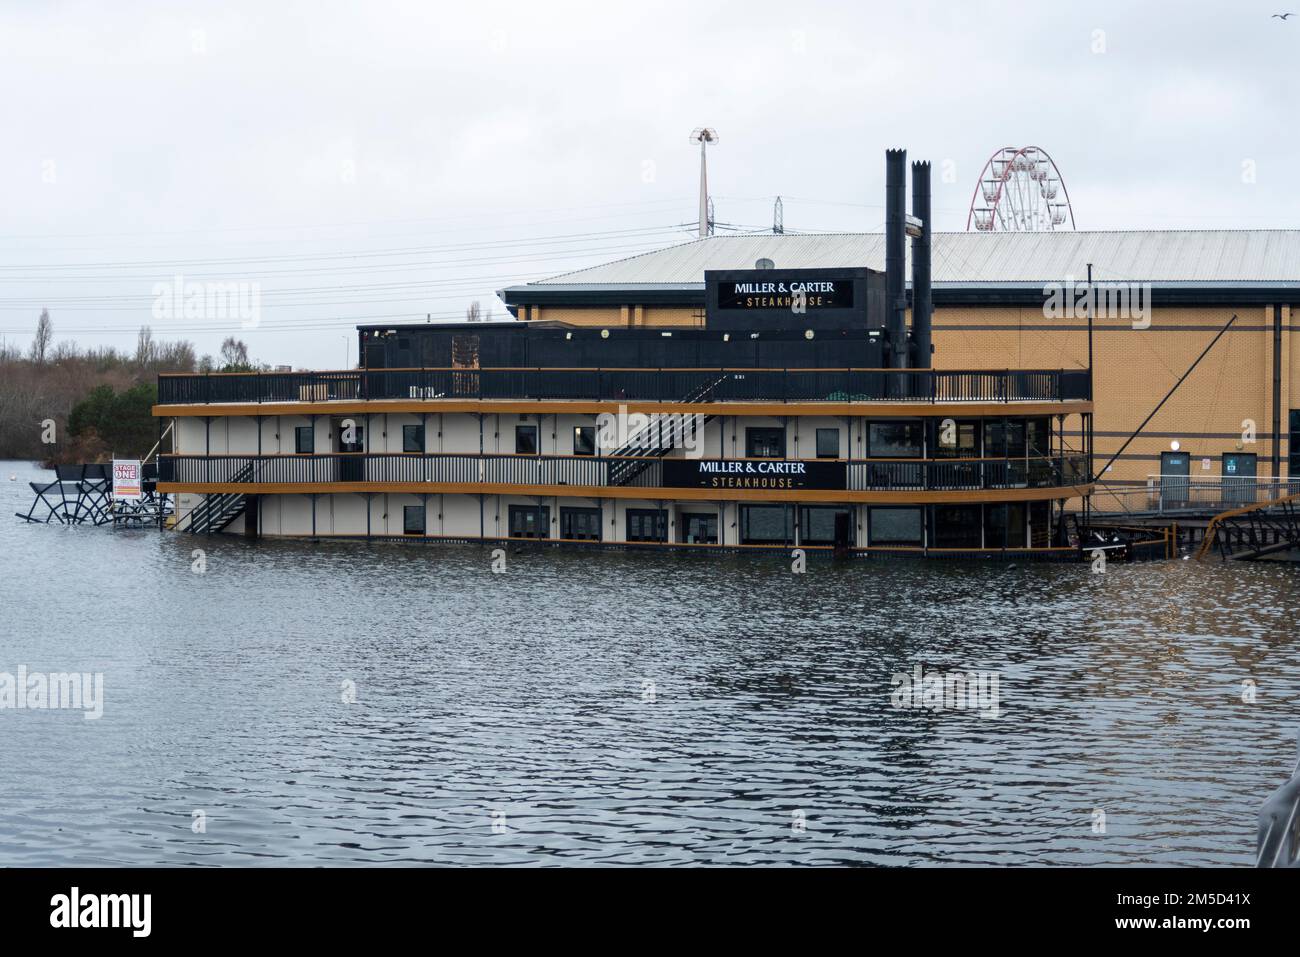
M972 226L982 233L1074 229L1070 194L1045 150L1006 146L988 159L966 216L966 230Z

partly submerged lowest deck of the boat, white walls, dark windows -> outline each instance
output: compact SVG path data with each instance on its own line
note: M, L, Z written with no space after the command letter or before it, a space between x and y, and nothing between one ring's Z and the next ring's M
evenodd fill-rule
M606 490L607 492L607 490ZM645 490L638 490L645 492ZM676 490L681 492L681 490ZM174 528L196 534L407 541L537 541L686 549L824 549L871 554L1070 551L1061 501L801 502L493 493L320 492L178 495ZM841 493L844 495L846 493ZM1075 549L1076 551L1076 549Z

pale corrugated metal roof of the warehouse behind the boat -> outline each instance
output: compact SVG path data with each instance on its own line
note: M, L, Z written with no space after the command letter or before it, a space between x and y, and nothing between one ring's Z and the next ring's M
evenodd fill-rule
M907 247L910 254L910 242ZM706 269L750 269L763 257L771 259L779 269L858 265L884 269L884 235L715 235L528 286L575 290L694 286L705 281ZM1300 230L935 234L935 283L1058 282L1067 276L1083 278L1088 263L1098 282L1297 282Z

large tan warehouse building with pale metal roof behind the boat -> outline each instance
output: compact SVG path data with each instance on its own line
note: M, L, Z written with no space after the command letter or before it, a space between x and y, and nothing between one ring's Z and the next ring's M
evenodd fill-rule
M529 322L698 328L706 270L760 260L779 270L881 269L885 243L881 234L708 237L499 295ZM1300 230L935 234L935 368L1086 369L1089 264L1098 469L1236 316L1102 482L1300 476L1300 341L1291 338Z

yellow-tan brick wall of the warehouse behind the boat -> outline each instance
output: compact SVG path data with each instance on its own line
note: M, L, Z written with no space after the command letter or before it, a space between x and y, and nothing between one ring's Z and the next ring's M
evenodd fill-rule
M1134 329L1127 320L1097 320L1093 350L1096 368L1097 467L1119 449L1166 391L1186 372L1218 329L1238 321L1152 419L1143 437L1124 451L1108 481L1145 481L1160 472L1160 452L1175 438L1192 456L1193 476L1218 476L1223 452L1258 455L1258 475L1271 475L1273 430L1273 307L1153 308L1150 326ZM532 307L530 319L584 326L702 326L697 308L624 306L608 308ZM909 320L910 321L910 320ZM935 311L935 364L940 369L1079 369L1087 365L1084 319L1046 319L1041 307L961 307ZM1282 476L1287 467L1291 397L1300 402L1300 342L1287 326L1283 308ZM1253 420L1256 441L1243 438ZM1076 429L1076 420L1066 424ZM1082 439L1069 437L1072 445ZM1202 459L1210 469L1202 471Z

